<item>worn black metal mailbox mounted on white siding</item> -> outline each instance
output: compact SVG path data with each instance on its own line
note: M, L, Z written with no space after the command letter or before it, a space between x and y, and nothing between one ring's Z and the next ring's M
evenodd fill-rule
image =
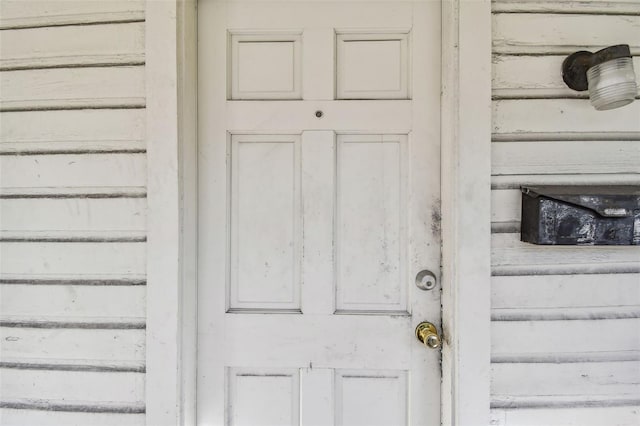
M522 241L640 245L640 187L522 188Z

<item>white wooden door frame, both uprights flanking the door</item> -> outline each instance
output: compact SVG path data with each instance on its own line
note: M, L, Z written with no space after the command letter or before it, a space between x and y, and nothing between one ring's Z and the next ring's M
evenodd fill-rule
M442 1L442 424L487 425L491 1ZM197 0L146 0L146 416L194 425Z

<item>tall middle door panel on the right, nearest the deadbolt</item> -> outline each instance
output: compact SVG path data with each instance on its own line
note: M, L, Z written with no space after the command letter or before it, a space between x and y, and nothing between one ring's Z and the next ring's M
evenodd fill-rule
M407 311L406 139L338 137L339 311Z

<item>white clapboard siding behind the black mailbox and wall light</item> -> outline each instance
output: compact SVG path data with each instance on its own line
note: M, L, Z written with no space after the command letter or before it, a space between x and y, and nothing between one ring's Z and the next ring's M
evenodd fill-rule
M577 50L628 43L640 3L493 3L492 422L640 424L640 250L519 241L523 184L640 185L640 102L562 82Z

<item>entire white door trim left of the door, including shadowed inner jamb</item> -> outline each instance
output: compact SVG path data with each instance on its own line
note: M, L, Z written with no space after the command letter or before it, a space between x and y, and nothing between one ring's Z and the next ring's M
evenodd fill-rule
M195 424L196 2L146 0L146 424Z

